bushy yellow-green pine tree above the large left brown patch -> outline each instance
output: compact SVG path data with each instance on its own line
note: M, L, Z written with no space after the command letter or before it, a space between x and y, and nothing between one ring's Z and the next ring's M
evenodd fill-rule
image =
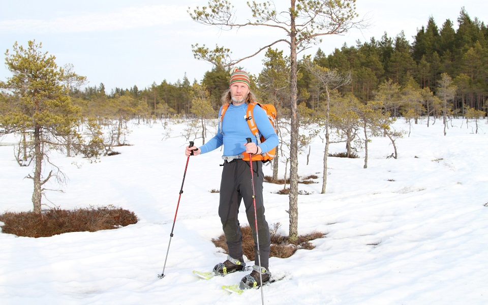
M43 164L50 164L49 149L63 150L68 138L71 141L80 138L75 130L80 109L72 104L64 86L65 74L56 65L55 57L43 53L41 48L42 44L35 41L29 41L27 48L15 43L13 52L5 53L7 68L13 75L0 82L0 88L13 95L13 102L0 115L0 130L2 133L26 133L32 139L28 145L34 151L34 173L27 177L34 182L35 213L41 212L43 185L53 176L58 181L64 180L60 171L53 173L51 170L47 176L43 173Z

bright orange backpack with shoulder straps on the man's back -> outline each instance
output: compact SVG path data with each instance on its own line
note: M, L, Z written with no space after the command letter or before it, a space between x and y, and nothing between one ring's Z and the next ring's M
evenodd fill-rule
M275 132L276 132L276 108L275 108L275 106L273 106L271 104L259 104L256 102L249 103L249 105L248 105L248 109L246 110L246 121L248 122L249 129L251 129L251 132L256 137L256 140L258 141L258 145L259 145L262 142L264 142L266 139L263 136L261 136L261 137L259 136L259 130L258 130L258 127L256 126L256 122L254 121L253 109L254 109L254 106L256 106L256 105L259 105L261 108L264 109L264 111L266 111L266 114L268 115L268 119L269 119L273 129L275 129ZM228 107L229 107L228 103L226 103L226 104L224 104L224 106L222 106L222 111L220 114L221 126L222 126L222 121L224 119L225 111L227 110ZM222 127L221 127L221 130L222 130ZM273 158L275 158L275 154L276 154L276 147L269 150L267 153L263 153L260 155L253 155L253 161L261 160L263 163L266 163L268 161L273 160ZM248 154L243 154L243 155L244 155L244 157L242 159L249 161L249 155Z

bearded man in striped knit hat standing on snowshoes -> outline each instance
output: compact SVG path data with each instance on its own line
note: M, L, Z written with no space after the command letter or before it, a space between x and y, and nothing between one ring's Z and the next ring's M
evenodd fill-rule
M214 267L216 275L244 270L246 263L242 257L242 235L237 219L240 202L243 199L246 206L246 216L253 231L255 265L250 275L242 279L248 286L261 285L269 281L269 227L264 217L263 203L263 171L262 162L253 161L254 193L256 200L256 217L253 204L253 185L249 161L249 155L266 153L279 143L278 136L269 122L266 112L258 105L254 106L253 117L260 135L266 139L257 145L257 139L252 134L246 121L246 110L249 103L256 102L256 96L250 90L249 75L241 70L234 69L231 73L229 89L222 96L222 104L229 104L222 123L219 125L217 135L199 148L186 147L185 154L190 156L193 150L194 156L208 153L211 150L224 145L224 169L220 185L219 216L227 239L229 255L227 260ZM222 107L219 114L222 113ZM253 139L246 143L246 138ZM257 253L255 219L257 219L259 256ZM261 264L259 264L259 258ZM261 268L259 267L261 266Z

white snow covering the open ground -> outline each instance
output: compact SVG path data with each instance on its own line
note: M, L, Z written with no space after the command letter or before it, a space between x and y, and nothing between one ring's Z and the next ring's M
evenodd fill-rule
M452 125L451 125L452 124ZM486 304L488 303L488 135L453 120L412 125L398 139L399 159L386 159L386 138L359 159L329 158L327 192L320 194L324 144L312 144L310 164L299 156L299 234L327 233L315 249L287 259L270 258L283 281L264 287L266 304ZM135 212L135 225L98 232L29 238L0 234L0 303L7 304L258 304L259 290L230 294L222 285L246 273L200 280L226 254L212 238L222 233L217 215L221 151L191 157L163 271L187 157L181 125L164 138L161 124L133 124L121 154L89 163L54 155L69 177L65 193L43 202L73 209L113 205ZM395 128L408 131L404 120ZM0 146L0 212L32 210L31 168L19 167L13 137ZM196 141L197 145L200 143ZM334 144L331 152L343 151ZM280 165L283 176L284 164ZM269 167L264 167L270 175ZM283 186L265 184L266 219L288 235L289 199ZM55 188L51 185L50 188ZM242 207L241 207L242 208ZM241 211L240 222L246 224ZM253 264L253 262L249 262Z

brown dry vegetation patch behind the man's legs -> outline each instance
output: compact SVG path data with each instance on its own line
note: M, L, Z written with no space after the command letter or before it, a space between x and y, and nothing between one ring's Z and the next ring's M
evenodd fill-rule
M298 236L297 243L290 243L287 236L279 235L277 233L280 227L281 224L276 223L269 228L271 237L270 257L287 258L292 256L298 249L312 250L315 246L310 241L325 237L324 233L314 231L307 235ZM241 227L240 230L242 232L242 252L249 260L254 260L254 240L251 233L251 227ZM214 242L216 247L224 249L225 253L229 253L224 234L220 235L217 239L213 238L212 242Z

